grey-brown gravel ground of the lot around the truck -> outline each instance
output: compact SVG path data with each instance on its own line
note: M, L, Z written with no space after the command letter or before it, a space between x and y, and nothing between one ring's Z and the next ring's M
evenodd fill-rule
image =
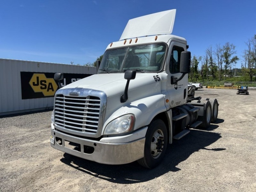
M256 191L256 90L201 89L215 124L168 145L153 170L105 165L50 147L51 111L0 116L0 191Z

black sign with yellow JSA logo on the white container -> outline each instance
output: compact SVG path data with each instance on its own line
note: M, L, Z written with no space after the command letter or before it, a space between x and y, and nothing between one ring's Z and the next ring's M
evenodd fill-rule
M61 86L75 82L91 74L64 73ZM53 97L58 89L54 73L20 72L22 99Z

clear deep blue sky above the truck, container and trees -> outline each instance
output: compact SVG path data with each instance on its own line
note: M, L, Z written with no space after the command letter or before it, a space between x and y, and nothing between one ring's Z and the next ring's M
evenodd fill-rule
M256 34L255 0L1 0L0 58L86 64L118 41L129 19L176 9L173 35L192 55L232 43L241 67Z

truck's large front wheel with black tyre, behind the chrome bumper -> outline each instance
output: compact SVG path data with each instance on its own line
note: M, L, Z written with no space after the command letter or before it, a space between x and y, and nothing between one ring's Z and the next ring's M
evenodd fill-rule
M138 163L146 168L156 167L164 159L168 138L167 129L160 119L153 120L146 133L144 157Z

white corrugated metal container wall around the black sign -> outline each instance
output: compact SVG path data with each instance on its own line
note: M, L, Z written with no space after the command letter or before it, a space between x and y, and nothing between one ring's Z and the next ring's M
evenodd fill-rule
M21 98L20 72L97 73L95 67L0 59L0 115L34 111L53 106L54 97L36 99Z

